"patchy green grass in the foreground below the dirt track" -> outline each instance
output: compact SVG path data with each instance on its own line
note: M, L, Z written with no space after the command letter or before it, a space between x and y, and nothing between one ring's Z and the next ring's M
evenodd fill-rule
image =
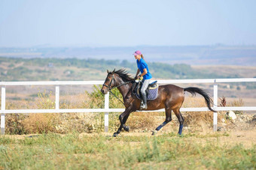
M0 136L0 169L255 169L256 145L197 142L226 136Z

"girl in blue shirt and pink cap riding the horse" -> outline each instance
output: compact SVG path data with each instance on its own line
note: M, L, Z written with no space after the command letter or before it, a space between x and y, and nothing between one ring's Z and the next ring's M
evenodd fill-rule
M142 80L142 105L141 105L141 109L147 109L147 95L146 95L146 89L148 88L149 82L152 78L151 73L148 70L148 64L145 62L144 57L142 55L142 52L140 52L139 50L134 52L134 57L137 60L137 66L138 66L138 70L136 73L136 78L139 79L140 77L143 76L143 80ZM141 72L142 74L139 75L139 72Z

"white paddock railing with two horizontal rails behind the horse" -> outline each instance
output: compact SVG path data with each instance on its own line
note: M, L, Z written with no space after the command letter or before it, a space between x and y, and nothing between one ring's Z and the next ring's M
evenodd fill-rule
M255 111L256 106L244 107L218 107L218 83L222 82L256 82L255 78L248 79L172 79L158 80L159 84L184 84L184 83L212 83L213 84L213 102L212 109L215 111ZM5 134L5 114L8 113L72 113L72 112L105 112L105 132L108 132L108 113L123 112L124 109L109 109L109 94L105 95L104 109L59 109L59 86L61 85L102 85L103 81L56 81L56 82L0 82L2 86L2 102L1 102L1 134ZM55 109L5 109L5 87L18 85L55 85ZM207 107L200 108L181 108L181 112L205 112L209 111ZM145 112L165 112L164 109ZM213 113L213 130L217 130L217 112Z

